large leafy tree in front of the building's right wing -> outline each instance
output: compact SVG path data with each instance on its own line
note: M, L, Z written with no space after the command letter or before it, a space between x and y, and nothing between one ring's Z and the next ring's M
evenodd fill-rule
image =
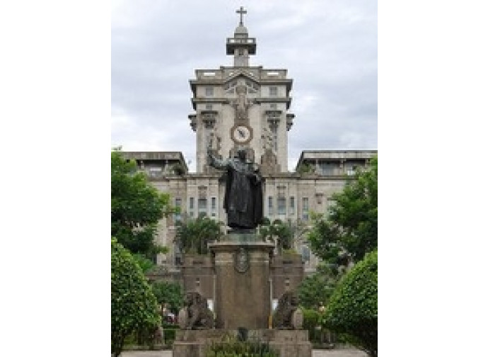
M332 198L328 217L312 216L308 240L323 261L347 266L378 246L378 157Z

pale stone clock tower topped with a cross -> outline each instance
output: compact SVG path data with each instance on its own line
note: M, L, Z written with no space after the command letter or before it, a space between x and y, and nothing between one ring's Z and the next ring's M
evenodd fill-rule
M226 40L233 66L197 69L196 79L190 79L196 113L188 118L197 134L197 173L213 170L207 164L207 148L222 159L245 148L263 173L286 172L288 130L294 119L287 113L293 81L286 78L286 69L250 66L256 39L249 37L243 23L247 11L241 6L236 13L240 21L233 37Z

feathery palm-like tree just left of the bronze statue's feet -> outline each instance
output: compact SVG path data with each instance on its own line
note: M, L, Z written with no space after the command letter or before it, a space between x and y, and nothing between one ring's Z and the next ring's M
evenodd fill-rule
M207 254L207 243L219 241L223 236L223 222L204 216L176 223L175 242L180 250L190 254Z

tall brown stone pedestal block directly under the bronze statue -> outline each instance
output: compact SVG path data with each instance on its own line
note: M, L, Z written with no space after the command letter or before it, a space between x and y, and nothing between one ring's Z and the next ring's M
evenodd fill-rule
M269 255L274 244L255 234L229 234L209 244L216 273L214 312L218 329L267 329L271 314Z

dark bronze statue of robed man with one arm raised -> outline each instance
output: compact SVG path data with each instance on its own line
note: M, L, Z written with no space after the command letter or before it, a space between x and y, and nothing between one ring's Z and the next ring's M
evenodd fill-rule
M237 157L221 160L207 151L209 165L227 171L223 208L227 225L234 229L253 229L262 222L262 177L252 163L246 161L244 149Z

